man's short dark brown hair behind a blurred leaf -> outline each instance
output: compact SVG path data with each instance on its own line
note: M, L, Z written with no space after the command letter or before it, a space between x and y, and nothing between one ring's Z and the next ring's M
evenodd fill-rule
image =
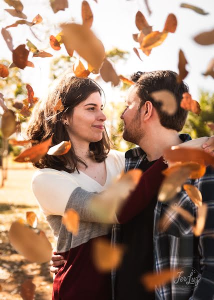
M182 130L185 123L188 111L180 107L182 94L188 92L188 85L181 81L177 83L177 73L170 70L160 70L151 72L136 72L131 76L131 80L135 82L137 87L137 95L140 98L139 109L146 101L151 101L155 107L160 124L163 127L174 129L176 131ZM151 97L151 92L167 89L173 93L177 102L177 110L170 115L161 110L161 103L154 101Z

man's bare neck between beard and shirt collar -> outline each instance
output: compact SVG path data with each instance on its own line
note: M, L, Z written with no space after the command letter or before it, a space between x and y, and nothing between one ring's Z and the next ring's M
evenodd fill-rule
M147 154L149 161L158 159L163 155L165 149L182 143L179 134L175 130L161 128L159 131L146 134L140 140L140 148Z

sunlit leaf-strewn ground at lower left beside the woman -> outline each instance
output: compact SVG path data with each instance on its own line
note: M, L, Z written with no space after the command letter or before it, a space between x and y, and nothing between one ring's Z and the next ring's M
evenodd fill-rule
M1 170L0 170L1 171ZM31 263L18 254L10 245L8 230L11 223L19 218L26 220L26 211L34 211L38 217L38 228L43 230L54 246L54 239L48 224L39 211L30 189L35 169L27 163L13 163L9 160L7 180L0 188L0 299L22 299L21 283L32 278L36 285L35 300L50 300L52 276L49 263Z

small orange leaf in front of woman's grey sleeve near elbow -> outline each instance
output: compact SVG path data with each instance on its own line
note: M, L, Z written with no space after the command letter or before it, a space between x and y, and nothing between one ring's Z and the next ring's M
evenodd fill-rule
M77 235L79 229L79 215L74 209L65 211L62 217L62 223L66 226L67 230L72 234Z

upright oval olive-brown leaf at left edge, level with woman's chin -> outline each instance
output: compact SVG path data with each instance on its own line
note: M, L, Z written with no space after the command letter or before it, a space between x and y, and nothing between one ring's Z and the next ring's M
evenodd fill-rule
M1 132L4 138L8 138L16 131L15 114L11 109L6 110L1 117Z

